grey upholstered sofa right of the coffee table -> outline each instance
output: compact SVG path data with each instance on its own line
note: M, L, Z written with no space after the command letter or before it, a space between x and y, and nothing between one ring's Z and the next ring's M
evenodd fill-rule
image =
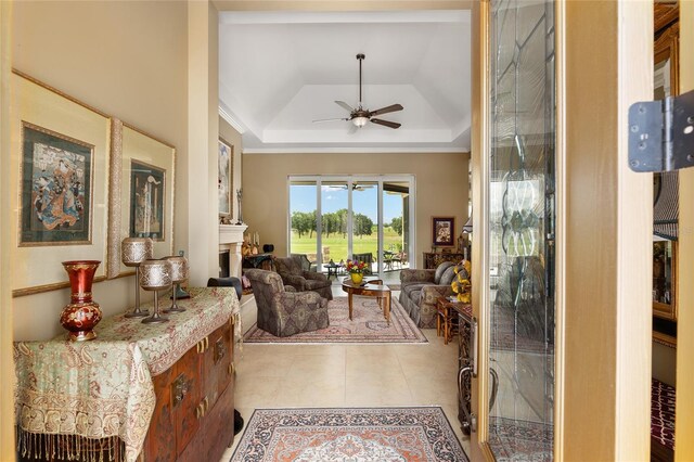
M459 271L465 271L462 265ZM436 328L436 299L453 295L455 264L444 261L436 269L400 271L400 305L420 328Z

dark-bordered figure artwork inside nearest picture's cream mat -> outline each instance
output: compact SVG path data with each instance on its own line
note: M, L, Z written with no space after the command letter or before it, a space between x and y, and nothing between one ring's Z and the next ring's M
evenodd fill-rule
M94 146L22 123L20 246L91 243Z

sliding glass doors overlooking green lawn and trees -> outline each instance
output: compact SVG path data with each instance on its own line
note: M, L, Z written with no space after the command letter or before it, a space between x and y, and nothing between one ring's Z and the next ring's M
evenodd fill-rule
M407 176L290 177L292 254L304 254L311 269L342 274L349 258L368 262L371 273L409 267L413 252L414 178ZM390 274L393 281L398 273Z

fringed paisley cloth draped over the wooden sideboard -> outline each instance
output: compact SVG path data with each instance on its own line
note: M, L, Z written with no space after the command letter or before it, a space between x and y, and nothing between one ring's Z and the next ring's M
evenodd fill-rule
M164 324L117 315L97 326L95 341L73 343L61 335L50 342L15 343L22 453L69 460L90 452L93 460L134 462L154 411L152 376L239 311L231 287L193 287L190 293L191 298L178 301L187 311L169 315ZM99 441L104 438L105 445Z

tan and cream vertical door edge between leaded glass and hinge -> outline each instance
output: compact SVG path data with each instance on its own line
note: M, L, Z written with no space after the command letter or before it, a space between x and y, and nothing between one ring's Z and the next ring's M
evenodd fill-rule
M557 284L565 297L564 368L575 380L564 382L560 405L562 457L648 460L653 216L644 204L653 203L653 180L629 170L624 127L629 104L653 99L653 4L564 3L570 245ZM586 424L595 419L599 425Z

